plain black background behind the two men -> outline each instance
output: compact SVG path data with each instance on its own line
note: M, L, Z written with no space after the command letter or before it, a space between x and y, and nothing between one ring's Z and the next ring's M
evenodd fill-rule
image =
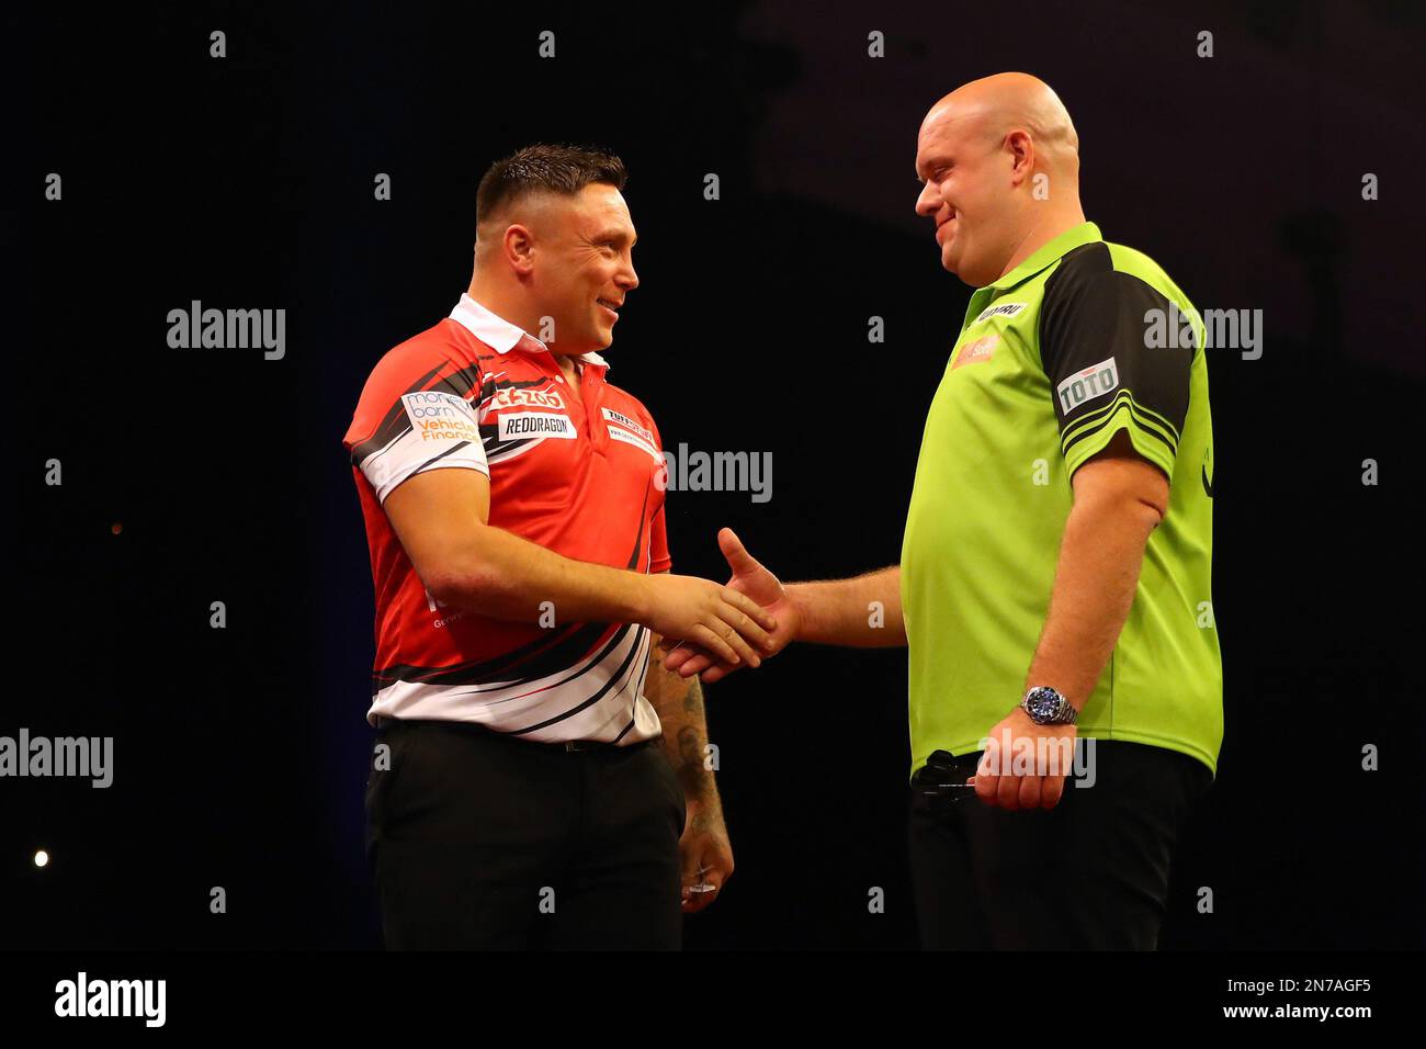
M724 524L784 579L893 562L970 295L913 214L915 131L957 84L1020 69L1074 116L1104 235L1201 310L1265 315L1261 360L1209 360L1226 735L1164 945L1419 948L1417 6L526 10L7 26L20 578L0 734L113 735L116 779L0 784L0 945L379 943L371 575L341 437L381 354L466 287L476 183L522 144L629 166L642 287L607 357L666 447L773 452L767 504L670 495L676 571L723 578ZM287 357L170 350L167 313L195 298L285 308ZM709 721L737 871L687 945L914 946L904 654L794 648L710 688Z

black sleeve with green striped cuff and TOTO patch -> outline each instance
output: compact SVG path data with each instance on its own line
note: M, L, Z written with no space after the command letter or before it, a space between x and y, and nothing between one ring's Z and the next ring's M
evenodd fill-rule
M1061 277L1061 274L1057 274ZM1151 345L1151 311L1185 314L1138 277L1117 270L1051 278L1041 313L1040 357L1060 421L1060 450L1072 477L1121 430L1145 460L1174 475L1188 414L1194 347ZM1164 341L1164 340L1159 340ZM1201 341L1201 338L1199 338Z

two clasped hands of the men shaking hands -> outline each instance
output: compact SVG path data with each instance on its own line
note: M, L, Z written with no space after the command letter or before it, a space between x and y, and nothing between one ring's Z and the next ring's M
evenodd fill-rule
M649 577L656 588L647 625L662 635L666 669L712 684L797 639L801 611L777 577L743 547L732 528L717 535L733 577L719 587L687 575Z

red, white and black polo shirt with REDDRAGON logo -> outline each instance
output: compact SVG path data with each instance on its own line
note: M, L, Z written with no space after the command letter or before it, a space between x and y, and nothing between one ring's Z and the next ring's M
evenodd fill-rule
M576 561L666 571L663 452L653 417L583 354L582 404L543 343L469 295L395 347L362 390L351 452L376 591L366 719L479 722L523 739L656 736L643 698L649 629L492 619L432 599L382 501L428 470L491 478L489 524Z

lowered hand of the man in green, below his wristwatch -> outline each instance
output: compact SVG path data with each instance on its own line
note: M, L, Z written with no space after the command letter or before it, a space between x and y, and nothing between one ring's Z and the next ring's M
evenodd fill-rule
M1002 809L1052 809L1074 768L1074 725L1037 725L1017 706L985 741L971 782L975 796Z

